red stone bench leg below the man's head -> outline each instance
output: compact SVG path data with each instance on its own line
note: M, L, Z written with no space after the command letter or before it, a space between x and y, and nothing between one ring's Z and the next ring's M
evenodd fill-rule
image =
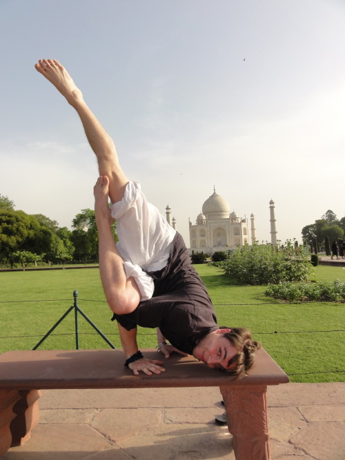
M266 386L221 386L236 460L270 460Z

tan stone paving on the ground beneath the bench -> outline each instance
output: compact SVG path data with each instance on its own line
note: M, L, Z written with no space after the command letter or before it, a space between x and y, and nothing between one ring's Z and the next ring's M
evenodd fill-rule
M44 390L39 424L1 460L235 460L217 388ZM345 383L268 387L272 459L345 459ZM255 460L255 459L248 459Z

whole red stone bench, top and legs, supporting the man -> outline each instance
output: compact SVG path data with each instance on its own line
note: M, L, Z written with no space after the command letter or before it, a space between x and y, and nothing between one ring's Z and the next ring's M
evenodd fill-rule
M141 350L161 359L155 349ZM40 390L57 388L185 388L219 386L237 460L270 459L266 389L288 376L262 348L241 380L174 354L166 372L135 376L122 350L34 350L0 354L0 456L30 437L39 420Z

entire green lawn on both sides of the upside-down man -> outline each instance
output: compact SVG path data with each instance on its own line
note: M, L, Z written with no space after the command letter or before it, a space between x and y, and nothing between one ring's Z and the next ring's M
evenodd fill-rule
M195 266L215 304L219 325L246 326L289 374L290 381L344 381L344 304L283 303L264 296L265 286L239 286L221 270ZM345 281L340 267L318 266L315 280ZM99 271L50 270L0 273L0 352L30 350L73 303L120 347L105 301ZM80 348L108 348L79 317ZM340 331L342 329L342 331ZM70 313L40 346L75 348L75 319ZM155 330L139 328L142 348L156 344Z

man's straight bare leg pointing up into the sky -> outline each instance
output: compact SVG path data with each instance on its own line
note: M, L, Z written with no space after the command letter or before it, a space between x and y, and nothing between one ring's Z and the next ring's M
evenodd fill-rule
M120 201L128 178L119 165L115 144L101 123L83 100L81 90L56 59L40 59L34 66L52 85L61 92L68 103L77 110L92 150L95 152L99 175L109 178L109 195L113 203Z

